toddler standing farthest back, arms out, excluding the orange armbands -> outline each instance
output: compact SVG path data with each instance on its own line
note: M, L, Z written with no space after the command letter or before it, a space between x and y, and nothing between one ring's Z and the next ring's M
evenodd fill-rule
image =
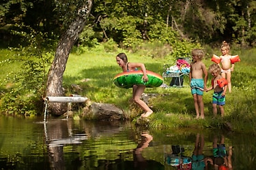
M227 86L229 88L229 92L231 92L231 71L233 71L233 67L235 67L235 65L230 62L231 59L231 55L229 54L229 44L227 44L226 41L223 41L223 44L221 46L221 53L222 56L220 56L221 58L221 75L223 76L223 78L227 78ZM231 66L231 67L230 67Z

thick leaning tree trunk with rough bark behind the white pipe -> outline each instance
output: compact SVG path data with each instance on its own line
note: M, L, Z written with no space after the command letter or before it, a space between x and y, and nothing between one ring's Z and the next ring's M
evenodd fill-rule
M77 18L70 24L67 31L61 36L55 52L55 58L48 72L46 97L60 97L65 95L62 87L63 73L66 69L68 56L74 43L85 27L85 22L91 12L92 0L85 1L78 12ZM67 112L67 103L48 103L48 112L61 115Z

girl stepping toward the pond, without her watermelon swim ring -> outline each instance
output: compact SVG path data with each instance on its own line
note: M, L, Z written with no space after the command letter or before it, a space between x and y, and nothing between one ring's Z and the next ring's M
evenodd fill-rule
M122 67L124 72L135 71L137 70L138 67L140 67L141 70L143 71L143 77L142 77L143 81L144 82L148 81L146 68L143 63L128 63L128 58L124 53L119 53L116 56L116 60L119 67ZM144 114L141 114L141 117L146 118L150 116L153 113L153 111L152 109L150 109L150 107L147 106L147 104L144 101L141 100L141 95L144 92L144 90L145 90L144 85L134 85L132 87L132 99L134 100L135 103L139 105L139 107L141 107L141 109L145 111Z

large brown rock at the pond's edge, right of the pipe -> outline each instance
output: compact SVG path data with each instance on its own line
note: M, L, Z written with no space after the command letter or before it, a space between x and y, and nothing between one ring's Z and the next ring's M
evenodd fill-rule
M121 120L124 112L113 104L91 103L84 109L83 116L94 120Z

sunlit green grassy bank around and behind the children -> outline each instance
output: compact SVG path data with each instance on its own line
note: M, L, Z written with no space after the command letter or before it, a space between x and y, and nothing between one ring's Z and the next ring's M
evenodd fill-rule
M83 88L79 95L88 97L91 101L100 103L113 103L124 109L126 116L136 120L141 110L132 105L129 100L132 96L131 89L117 88L113 84L113 77L122 71L115 61L119 52L105 52L103 49L85 50L83 54L70 54L66 71L64 73L63 86L66 88L66 95L73 94L72 84ZM210 52L209 52L210 53ZM147 69L162 74L163 65L173 64L171 58L150 57L144 54L131 54L126 52L130 62L145 63ZM216 54L220 52L216 50ZM156 93L157 97L150 99L149 105L154 110L150 116L149 126L152 128L177 128L186 127L216 128L221 129L223 124L229 122L233 131L240 133L256 134L256 49L232 51L232 54L239 54L241 62L236 63L232 73L232 92L227 92L225 105L225 117L213 118L212 116L212 91L205 92L203 101L205 103L205 120L195 120L195 108L193 97L188 86L188 77L184 77L184 88L146 88L145 93ZM205 56L204 63L209 67L212 62L210 56ZM2 57L1 57L2 61ZM18 68L18 63L12 63ZM3 66L3 67L2 67ZM1 80L12 71L10 65L1 65ZM210 86L211 75L208 78ZM171 79L165 79L169 84ZM1 93L6 91L8 81L1 84Z

